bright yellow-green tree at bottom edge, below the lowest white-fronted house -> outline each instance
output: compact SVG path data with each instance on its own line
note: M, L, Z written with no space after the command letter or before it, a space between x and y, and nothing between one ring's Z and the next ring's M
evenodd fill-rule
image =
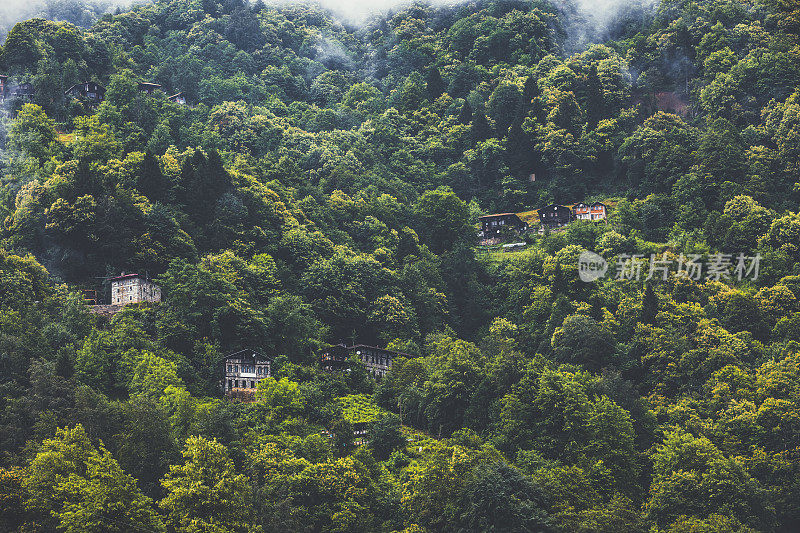
M159 505L182 533L249 531L250 486L237 474L228 450L215 439L189 437L182 465L170 466L161 481L167 492Z

